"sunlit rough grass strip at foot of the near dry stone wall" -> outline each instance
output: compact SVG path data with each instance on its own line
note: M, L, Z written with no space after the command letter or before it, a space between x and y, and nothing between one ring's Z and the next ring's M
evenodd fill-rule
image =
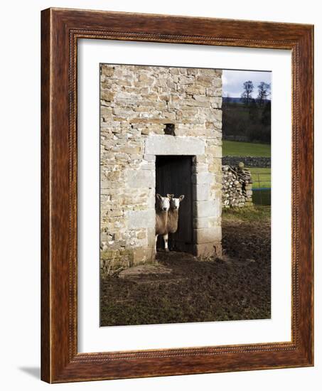
M265 222L271 219L271 207L254 205L249 208L222 209L222 221L240 221L245 223Z

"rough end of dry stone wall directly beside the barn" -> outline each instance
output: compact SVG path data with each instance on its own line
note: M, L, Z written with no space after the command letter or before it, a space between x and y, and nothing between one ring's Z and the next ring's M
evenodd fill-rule
M252 176L243 163L222 166L222 208L252 205Z

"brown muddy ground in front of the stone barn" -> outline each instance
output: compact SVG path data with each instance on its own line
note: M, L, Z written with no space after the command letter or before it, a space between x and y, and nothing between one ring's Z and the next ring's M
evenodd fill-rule
M101 326L270 318L269 213L224 213L222 235L222 259L159 252L102 280Z

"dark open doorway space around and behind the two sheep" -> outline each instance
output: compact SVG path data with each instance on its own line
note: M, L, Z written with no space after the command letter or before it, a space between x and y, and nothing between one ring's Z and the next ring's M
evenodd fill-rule
M156 157L156 193L185 196L180 203L178 231L169 237L173 250L185 252L193 251L191 166L192 156Z

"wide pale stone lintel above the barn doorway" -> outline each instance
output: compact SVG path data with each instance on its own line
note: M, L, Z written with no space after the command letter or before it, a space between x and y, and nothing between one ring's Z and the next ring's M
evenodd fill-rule
M202 155L205 141L198 137L170 136L164 134L146 137L145 154L149 155Z

